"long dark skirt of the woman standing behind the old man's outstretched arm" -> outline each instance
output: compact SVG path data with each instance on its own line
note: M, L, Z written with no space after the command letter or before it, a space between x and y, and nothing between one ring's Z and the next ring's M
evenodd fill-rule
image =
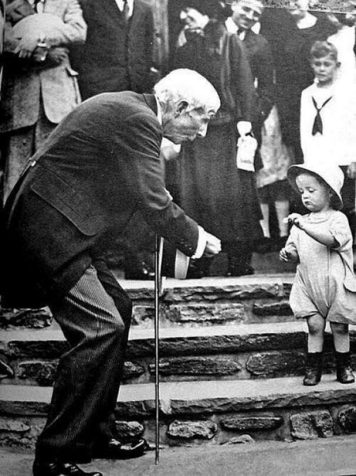
M262 237L254 173L236 167L236 142L235 123L210 125L184 144L177 167L182 208L223 242Z

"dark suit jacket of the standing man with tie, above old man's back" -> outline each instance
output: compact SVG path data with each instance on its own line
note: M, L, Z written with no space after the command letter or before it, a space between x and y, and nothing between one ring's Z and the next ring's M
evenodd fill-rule
M79 72L83 99L108 91L151 92L151 7L135 0L127 27L115 0L81 0L80 5L87 38L84 46L73 51L73 67Z

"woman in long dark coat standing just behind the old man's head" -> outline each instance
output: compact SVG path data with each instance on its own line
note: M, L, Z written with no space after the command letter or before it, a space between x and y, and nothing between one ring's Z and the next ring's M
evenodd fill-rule
M221 239L228 274L252 274L253 242L262 236L260 208L254 173L236 166L236 143L251 130L253 78L241 41L217 20L219 2L188 0L186 6L190 24L187 21L186 42L177 48L174 66L205 76L218 91L221 109L206 137L182 149L180 200L190 216ZM199 265L204 268L202 260ZM206 268L203 271L207 274Z

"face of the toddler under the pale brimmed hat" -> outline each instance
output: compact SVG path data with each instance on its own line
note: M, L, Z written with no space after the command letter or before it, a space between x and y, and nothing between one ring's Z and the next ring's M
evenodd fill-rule
M295 184L301 194L303 205L308 210L327 211L330 209L332 193L313 175L302 173L296 177Z

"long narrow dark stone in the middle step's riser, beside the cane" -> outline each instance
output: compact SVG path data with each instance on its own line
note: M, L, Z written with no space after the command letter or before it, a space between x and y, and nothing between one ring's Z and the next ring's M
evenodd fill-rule
M159 362L162 375L233 375L241 369L242 365L234 360L210 357L179 357ZM150 372L155 372L154 364L150 365Z

